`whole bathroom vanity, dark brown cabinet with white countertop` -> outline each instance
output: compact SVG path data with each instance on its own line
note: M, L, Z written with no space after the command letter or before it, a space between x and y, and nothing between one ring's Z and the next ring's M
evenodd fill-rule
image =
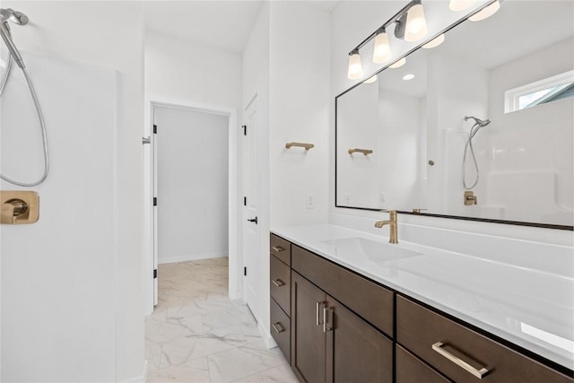
M574 381L571 278L327 224L274 230L270 257L301 382Z

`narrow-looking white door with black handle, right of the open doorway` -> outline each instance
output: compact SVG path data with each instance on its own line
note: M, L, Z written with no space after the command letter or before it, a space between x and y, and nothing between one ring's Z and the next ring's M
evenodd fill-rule
M257 275L259 274L259 159L257 158L257 96L246 109L244 126L244 191L243 207L243 291L245 301L256 318L259 318L257 305Z

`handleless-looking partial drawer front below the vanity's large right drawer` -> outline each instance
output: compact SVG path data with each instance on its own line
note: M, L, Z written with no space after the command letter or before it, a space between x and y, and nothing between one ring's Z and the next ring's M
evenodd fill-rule
M396 383L449 383L437 371L396 344Z

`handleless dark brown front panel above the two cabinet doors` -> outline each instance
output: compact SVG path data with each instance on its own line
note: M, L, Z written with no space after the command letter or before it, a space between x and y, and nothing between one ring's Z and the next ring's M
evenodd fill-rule
M393 292L296 245L292 245L291 267L372 326L393 336Z

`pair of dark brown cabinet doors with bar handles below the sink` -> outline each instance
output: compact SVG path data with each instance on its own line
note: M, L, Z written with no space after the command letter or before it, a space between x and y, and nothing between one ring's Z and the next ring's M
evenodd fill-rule
M291 284L291 367L300 381L393 381L392 341L300 274Z

